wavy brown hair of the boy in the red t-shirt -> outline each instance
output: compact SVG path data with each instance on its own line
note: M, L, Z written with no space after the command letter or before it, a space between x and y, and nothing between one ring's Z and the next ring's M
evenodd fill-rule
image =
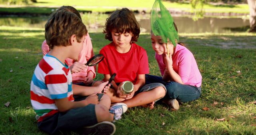
M104 26L103 33L105 39L113 41L111 32L117 33L132 32L131 43L137 42L140 34L140 24L137 22L134 13L128 8L117 9L109 18Z

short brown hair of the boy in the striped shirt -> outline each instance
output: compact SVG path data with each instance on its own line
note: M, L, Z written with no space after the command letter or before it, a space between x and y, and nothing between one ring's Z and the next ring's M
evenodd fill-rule
M82 20L67 10L53 12L45 24L45 39L50 49L54 46L70 46L70 37L75 34L78 42L87 34Z

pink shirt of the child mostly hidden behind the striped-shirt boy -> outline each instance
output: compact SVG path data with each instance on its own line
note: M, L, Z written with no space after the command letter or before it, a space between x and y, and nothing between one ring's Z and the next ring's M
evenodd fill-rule
M49 46L46 43L46 40L44 40L44 42L42 43L43 55L46 55L49 51L50 51ZM92 58L92 56L94 56L94 52L92 49L92 42L91 42L89 34L87 33L87 36L86 36L86 39L84 42L84 46L83 46L83 50L79 54L78 62L86 64L87 61L90 58ZM73 60L70 58L67 58L66 61L68 62L69 66L73 64ZM88 68L80 71L79 73L72 73L72 82L73 83L83 82L84 80L86 80L86 77L87 77L89 71L92 71L94 73L94 75L93 75L93 78L94 78L96 75L95 67L91 66L91 67L88 67Z

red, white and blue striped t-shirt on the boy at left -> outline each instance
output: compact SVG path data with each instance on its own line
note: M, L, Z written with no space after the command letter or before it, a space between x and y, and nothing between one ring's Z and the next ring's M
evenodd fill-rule
M46 54L36 66L30 85L31 104L38 122L58 112L54 99L65 97L74 101L71 71L66 63Z

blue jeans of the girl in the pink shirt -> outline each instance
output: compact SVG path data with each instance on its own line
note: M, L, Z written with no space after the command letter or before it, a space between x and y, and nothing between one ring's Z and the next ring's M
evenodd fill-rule
M165 85L167 93L164 98L177 99L180 102L188 102L196 100L201 95L201 86L195 87L191 85L184 85L175 81L166 82L160 76L146 74L146 84L162 83Z

